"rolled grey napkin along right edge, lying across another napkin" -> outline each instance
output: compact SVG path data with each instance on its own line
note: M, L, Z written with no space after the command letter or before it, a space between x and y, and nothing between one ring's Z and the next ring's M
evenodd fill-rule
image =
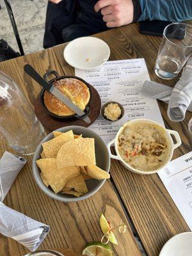
M189 58L182 75L173 88L168 104L167 114L170 120L180 122L184 120L186 111L192 100L192 57Z

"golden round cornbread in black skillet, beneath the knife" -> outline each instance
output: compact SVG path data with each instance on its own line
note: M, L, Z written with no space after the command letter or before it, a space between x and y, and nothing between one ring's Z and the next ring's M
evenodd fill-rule
M53 84L79 108L82 110L86 108L90 100L90 91L83 81L76 78L65 78L55 81ZM72 116L75 114L74 111L47 91L44 93L44 104L51 113L58 116Z

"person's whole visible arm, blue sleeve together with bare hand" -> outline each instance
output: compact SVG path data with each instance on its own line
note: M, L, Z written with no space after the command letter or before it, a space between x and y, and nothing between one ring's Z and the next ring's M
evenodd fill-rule
M183 21L192 19L192 0L99 0L95 12L101 12L109 28L141 20Z

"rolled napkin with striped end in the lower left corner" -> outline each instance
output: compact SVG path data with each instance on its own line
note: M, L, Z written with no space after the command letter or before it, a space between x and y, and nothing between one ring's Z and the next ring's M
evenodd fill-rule
M44 241L50 227L17 212L0 202L0 232L34 252Z

